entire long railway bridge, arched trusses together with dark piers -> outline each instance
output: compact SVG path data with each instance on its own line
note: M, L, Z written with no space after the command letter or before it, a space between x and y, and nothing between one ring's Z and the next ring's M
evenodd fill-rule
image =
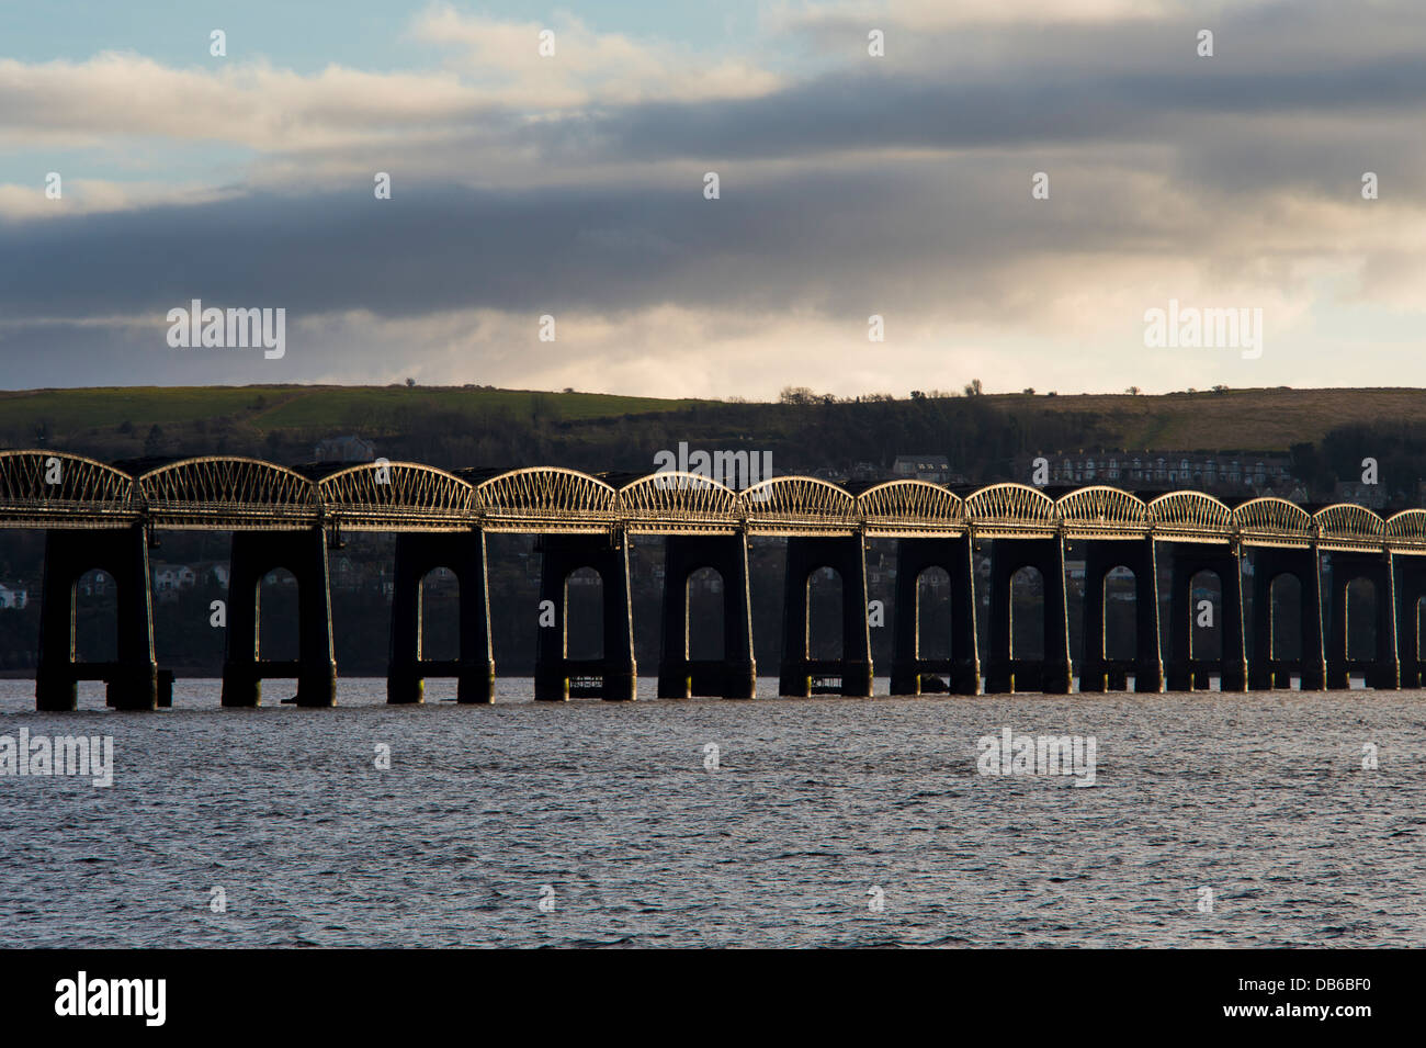
M787 540L783 579L780 692L810 694L819 682L843 694L871 693L866 542L897 540L893 605L893 694L918 694L935 677L951 692L1082 692L1202 689L1216 676L1225 690L1286 686L1346 687L1360 673L1372 687L1417 687L1420 600L1426 597L1426 510L1382 519L1338 503L1308 512L1278 498L1228 505L1178 490L1141 498L1108 486L1060 492L994 483L964 495L925 481L843 488L810 476L777 476L744 490L696 475L589 475L556 466L449 472L414 462L278 466L241 456L103 463L46 449L0 451L0 528L47 535L41 589L39 709L76 707L77 680L104 679L120 709L165 704L171 677L154 657L148 549L160 530L232 532L222 704L254 706L261 680L295 676L302 706L335 703L331 593L327 553L347 532L396 538L388 696L421 702L424 679L453 676L458 699L493 697L495 659L486 585L486 535L532 533L540 540L540 599L555 625L538 632L535 697L595 692L633 699L637 667L629 590L629 538L663 536L665 579L659 694L753 697L749 536ZM1065 586L1067 550L1085 562L1085 640L1072 654ZM990 579L977 577L975 552L990 556ZM1323 560L1330 583L1323 586ZM1243 620L1245 562L1252 566L1252 623ZM1168 587L1166 643L1159 623L1161 565ZM287 567L299 592L299 657L264 660L258 652L258 585ZM421 653L421 580L448 567L461 586L459 657L432 662ZM592 567L603 580L605 647L599 660L568 657L565 589L569 575ZM724 582L724 656L689 659L687 583L712 567ZM809 656L807 597L813 573L843 579L843 656ZM920 653L921 573L951 579L948 659ZM1011 580L1035 567L1044 580L1044 654L1020 657L1012 644ZM1115 567L1135 577L1137 652L1105 654L1105 580ZM74 585L107 570L120 602L114 663L74 659ZM1201 572L1222 590L1222 652L1192 650L1191 585ZM1273 650L1272 583L1299 583L1302 654ZM1376 650L1349 660L1346 590L1372 582ZM983 587L988 587L988 592ZM1326 589L1326 592L1323 592ZM987 597L990 643L981 652L978 595ZM532 619L533 619L532 613ZM1323 636L1323 622L1330 635ZM532 625L533 627L533 625Z

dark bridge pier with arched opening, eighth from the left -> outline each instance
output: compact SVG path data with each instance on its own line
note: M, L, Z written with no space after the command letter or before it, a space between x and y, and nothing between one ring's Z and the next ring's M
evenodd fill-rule
M1070 660L1070 613L1065 605L1065 549L1055 539L990 539L990 666L985 693L1044 692L1068 694L1074 674ZM1044 657L1014 657L1011 646L1011 580L1022 567L1035 567L1044 582Z

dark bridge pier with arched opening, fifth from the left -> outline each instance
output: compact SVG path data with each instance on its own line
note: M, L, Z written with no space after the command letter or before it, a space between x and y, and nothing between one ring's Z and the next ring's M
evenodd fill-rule
M723 657L689 659L689 576L712 567L723 579ZM663 542L659 697L757 696L747 535L669 535Z

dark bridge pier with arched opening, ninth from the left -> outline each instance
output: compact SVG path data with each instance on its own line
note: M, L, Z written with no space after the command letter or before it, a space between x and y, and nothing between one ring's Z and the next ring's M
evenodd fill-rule
M1082 539L1084 565L1084 662L1079 664L1081 692L1122 692L1134 673L1135 692L1164 690L1164 654L1159 646L1158 556L1154 539ZM1105 582L1115 567L1134 572L1134 660L1105 654Z

